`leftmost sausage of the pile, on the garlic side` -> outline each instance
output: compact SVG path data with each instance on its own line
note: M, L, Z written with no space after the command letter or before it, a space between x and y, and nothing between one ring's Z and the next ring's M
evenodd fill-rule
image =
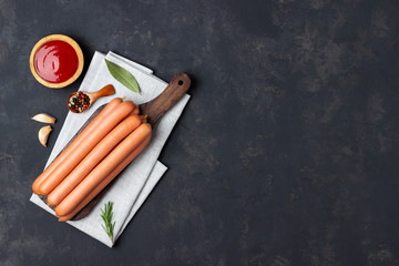
M39 194L39 186L41 183L61 164L65 158L68 158L73 151L82 143L82 141L91 135L93 131L96 129L99 123L103 121L103 119L109 115L119 104L122 103L122 99L115 98L113 99L103 111L88 125L88 127L79 134L79 136L69 145L50 165L47 167L43 173L39 175L39 177L33 182L32 190L35 194Z

